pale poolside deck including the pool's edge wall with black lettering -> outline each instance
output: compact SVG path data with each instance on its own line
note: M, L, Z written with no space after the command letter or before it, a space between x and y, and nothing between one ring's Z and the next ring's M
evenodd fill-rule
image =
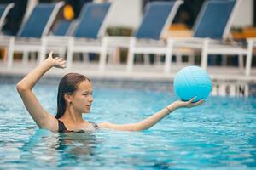
M9 69L4 62L0 62L0 77L24 77L38 64L36 62L15 62ZM99 71L96 63L74 62L72 69L52 69L45 77L62 77L68 72L79 72L90 77L104 87L128 87L157 90L171 90L172 82L177 71L187 65L173 64L169 74L163 73L163 65L135 65L133 71L127 72L126 65L107 65L105 71ZM212 95L215 96L256 96L256 69L253 68L251 76L246 77L244 71L238 67L208 67L207 72L212 78ZM19 78L19 79L20 79ZM3 79L0 79L0 83ZM17 81L17 80L15 80ZM106 81L108 82L106 84ZM49 79L47 80L49 82ZM151 82L138 83L131 82ZM164 82L164 83L163 83ZM131 85L133 84L133 85ZM147 86L147 87L146 87Z

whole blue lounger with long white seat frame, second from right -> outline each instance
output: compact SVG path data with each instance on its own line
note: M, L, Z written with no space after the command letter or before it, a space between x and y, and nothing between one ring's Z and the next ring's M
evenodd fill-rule
M129 48L127 71L132 71L135 54L166 54L163 37L182 3L183 1L148 3L143 21L133 37L105 37L108 48ZM106 59L102 60L103 70Z

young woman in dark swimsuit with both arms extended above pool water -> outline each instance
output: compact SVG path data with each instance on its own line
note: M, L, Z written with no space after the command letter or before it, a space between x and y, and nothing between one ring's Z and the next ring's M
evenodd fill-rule
M62 77L59 84L57 96L57 114L50 115L38 102L32 88L50 68L65 68L66 61L61 58L53 58L52 52L43 63L38 65L18 84L17 90L38 127L48 129L54 132L80 132L84 130L94 130L96 128L108 128L119 131L142 131L153 127L161 119L168 116L172 111L181 107L193 107L201 105L203 100L192 103L193 99L183 102L177 100L171 105L167 105L161 111L154 113L141 122L130 124L113 124L110 122L87 122L83 119L83 113L89 113L93 102L92 85L90 80L78 73L69 73Z

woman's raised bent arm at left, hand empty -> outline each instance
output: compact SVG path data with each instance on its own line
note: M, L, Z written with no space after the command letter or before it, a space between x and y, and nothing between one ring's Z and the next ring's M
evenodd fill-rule
M26 106L26 110L32 116L32 119L38 124L38 127L56 131L58 128L57 120L54 116L44 110L38 102L35 94L32 92L32 88L36 82L38 82L44 73L49 71L53 66L64 68L65 61L61 58L53 59L52 53L50 53L48 59L45 59L43 63L26 75L26 77L18 82L16 87L24 105Z

